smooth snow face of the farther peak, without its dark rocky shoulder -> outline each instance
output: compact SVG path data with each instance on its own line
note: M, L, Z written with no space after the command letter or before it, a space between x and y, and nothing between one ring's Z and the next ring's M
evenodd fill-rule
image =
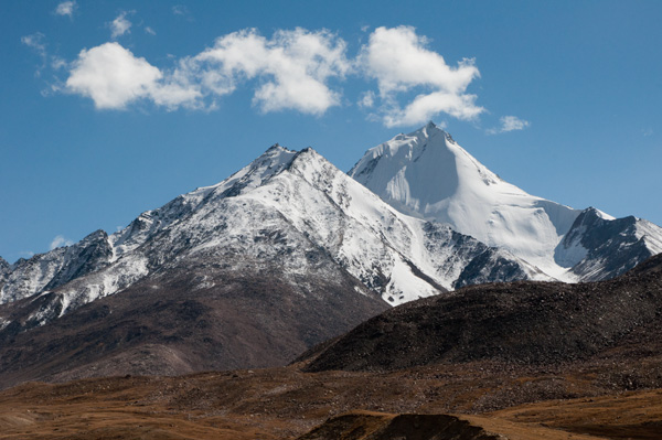
M402 212L447 223L556 279L575 281L568 269L586 254L576 244L554 257L580 211L504 182L431 122L369 150L350 175Z

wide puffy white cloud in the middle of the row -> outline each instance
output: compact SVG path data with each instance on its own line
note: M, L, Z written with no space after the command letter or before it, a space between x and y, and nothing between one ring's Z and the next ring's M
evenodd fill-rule
M295 109L321 115L340 104L329 88L350 69L343 40L327 31L277 31L270 40L249 29L216 40L213 47L189 58L180 74L195 77L215 95L234 92L245 79L259 78L254 104L263 111Z

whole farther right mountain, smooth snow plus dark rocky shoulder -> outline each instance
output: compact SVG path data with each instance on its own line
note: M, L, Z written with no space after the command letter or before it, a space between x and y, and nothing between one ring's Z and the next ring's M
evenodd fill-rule
M563 281L616 277L662 251L659 226L527 194L433 122L370 149L349 174L398 211L448 224Z

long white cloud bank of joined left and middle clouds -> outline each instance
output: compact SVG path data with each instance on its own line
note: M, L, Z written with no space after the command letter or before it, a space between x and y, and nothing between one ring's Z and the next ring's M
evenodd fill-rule
M214 99L258 79L254 104L261 111L293 109L321 115L340 105L331 78L350 71L345 43L327 31L277 31L268 40L255 30L231 33L214 46L162 72L120 44L84 50L72 63L66 89L99 109L122 109L139 99L174 109L214 108Z

